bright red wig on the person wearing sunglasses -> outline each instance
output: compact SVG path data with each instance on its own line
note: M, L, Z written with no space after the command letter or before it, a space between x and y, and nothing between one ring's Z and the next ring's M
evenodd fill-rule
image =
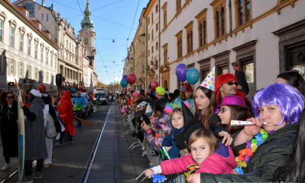
M220 97L221 97L221 94L220 94L220 91L219 91L221 85L225 84L226 82L232 81L232 80L234 80L236 83L238 83L237 78L232 73L220 74L216 78L216 80L215 80L215 93L216 93L217 104L219 104ZM237 90L237 87L236 87L236 94L235 95L241 96L245 99L245 101L250 102L249 98L247 98L246 95L243 92Z

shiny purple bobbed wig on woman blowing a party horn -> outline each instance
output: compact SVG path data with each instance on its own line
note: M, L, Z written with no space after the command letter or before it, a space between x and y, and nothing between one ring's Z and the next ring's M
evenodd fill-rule
M254 96L252 104L255 117L259 117L259 108L262 106L275 105L279 108L286 125L298 121L304 108L304 96L294 88L283 83L275 83L258 91Z

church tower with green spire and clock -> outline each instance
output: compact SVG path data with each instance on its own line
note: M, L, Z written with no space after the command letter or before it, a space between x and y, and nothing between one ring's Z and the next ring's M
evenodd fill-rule
M84 11L84 19L81 21L82 29L78 31L79 37L84 41L84 49L86 50L87 57L90 60L89 65L95 70L95 31L93 30L93 21L91 20L91 12L89 8L89 0L87 0L86 9ZM95 71L94 71L95 72Z

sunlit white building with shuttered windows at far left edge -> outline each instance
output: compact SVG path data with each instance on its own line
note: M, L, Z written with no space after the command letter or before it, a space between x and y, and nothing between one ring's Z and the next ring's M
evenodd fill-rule
M44 84L53 93L59 47L30 13L10 0L0 1L0 90L16 91L16 79L24 91Z

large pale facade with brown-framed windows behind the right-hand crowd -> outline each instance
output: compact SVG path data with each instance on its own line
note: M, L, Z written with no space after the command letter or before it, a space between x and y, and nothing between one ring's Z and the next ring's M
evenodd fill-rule
M304 75L304 0L160 0L160 6L160 70L170 76L161 83L170 91L179 87L179 63L200 71L201 82L214 66L216 76L233 73L237 61L250 94L280 72Z

